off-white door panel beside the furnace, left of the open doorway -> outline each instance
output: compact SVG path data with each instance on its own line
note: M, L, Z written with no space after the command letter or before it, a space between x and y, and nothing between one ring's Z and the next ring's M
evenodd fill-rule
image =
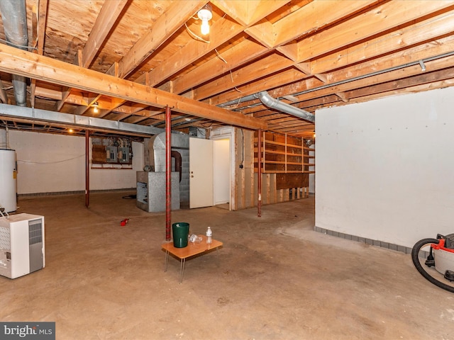
M213 141L189 138L189 208L212 205Z

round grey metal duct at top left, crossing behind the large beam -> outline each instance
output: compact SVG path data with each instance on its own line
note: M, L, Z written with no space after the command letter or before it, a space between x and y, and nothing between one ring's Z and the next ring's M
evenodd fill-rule
M8 45L27 50L26 0L1 0L1 19ZM13 74L14 98L17 106L27 106L26 77Z

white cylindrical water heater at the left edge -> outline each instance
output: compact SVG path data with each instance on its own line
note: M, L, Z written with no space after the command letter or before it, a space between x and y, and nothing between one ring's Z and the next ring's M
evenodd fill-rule
M6 212L17 210L16 151L0 149L0 207Z

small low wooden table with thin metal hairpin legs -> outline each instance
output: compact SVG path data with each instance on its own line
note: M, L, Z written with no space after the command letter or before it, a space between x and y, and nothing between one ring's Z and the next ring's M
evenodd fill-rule
M173 242L168 242L162 244L162 249L165 250L165 271L167 271L167 264L169 263L169 253L175 255L179 259L179 283L183 282L184 276L184 265L186 264L186 259L188 257L205 253L211 249L216 249L222 246L222 242L217 241L216 239L211 239L211 244L206 244L206 236L201 236L201 242L187 242L187 246L184 248L175 248Z

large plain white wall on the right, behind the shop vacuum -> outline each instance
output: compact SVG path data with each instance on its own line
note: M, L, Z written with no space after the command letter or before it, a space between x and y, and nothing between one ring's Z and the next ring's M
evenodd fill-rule
M454 87L316 111L316 230L408 252L453 232Z

